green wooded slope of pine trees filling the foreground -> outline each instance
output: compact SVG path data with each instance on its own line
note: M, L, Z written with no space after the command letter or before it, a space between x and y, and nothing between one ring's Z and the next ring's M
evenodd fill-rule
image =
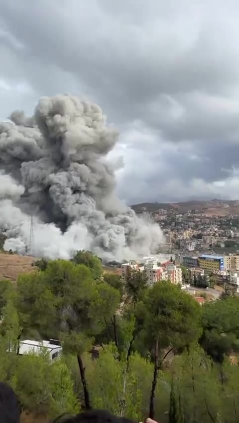
M148 288L143 272L104 273L90 252L36 264L16 284L0 281L0 380L24 422L90 407L135 421L238 422L238 297L200 307L170 282ZM63 345L53 364L17 355L20 339L50 338Z

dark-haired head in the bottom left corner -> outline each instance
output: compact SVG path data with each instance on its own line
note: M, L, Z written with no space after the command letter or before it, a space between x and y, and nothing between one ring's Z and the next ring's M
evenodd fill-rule
M0 382L0 422L19 423L20 414L21 407L16 394L7 384Z

